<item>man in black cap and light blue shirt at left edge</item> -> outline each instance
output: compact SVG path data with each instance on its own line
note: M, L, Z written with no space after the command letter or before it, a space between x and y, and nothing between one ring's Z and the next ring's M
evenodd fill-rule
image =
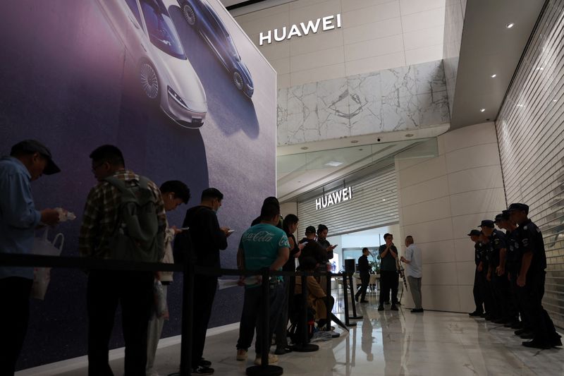
M0 252L29 254L39 225L59 222L59 212L36 210L31 182L43 174L61 171L41 142L25 140L13 145L10 157L0 159ZM0 375L13 375L27 332L31 267L0 267Z

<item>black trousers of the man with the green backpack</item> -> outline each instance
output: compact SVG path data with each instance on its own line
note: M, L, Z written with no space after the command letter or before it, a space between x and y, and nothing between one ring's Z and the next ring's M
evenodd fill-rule
M125 340L125 376L145 375L147 327L154 304L152 272L97 270L87 286L88 375L113 376L108 346L118 303Z

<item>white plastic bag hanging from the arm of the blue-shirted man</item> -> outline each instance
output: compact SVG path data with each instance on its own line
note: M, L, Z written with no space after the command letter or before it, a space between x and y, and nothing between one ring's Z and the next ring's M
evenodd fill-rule
M32 254L44 256L59 256L63 250L65 237L63 234L56 234L53 242L51 243L47 236L49 235L49 228L45 229L41 238L35 238L33 241ZM55 246L57 241L60 241L59 248ZM31 297L39 300L44 300L49 281L51 280L50 267L35 267L33 269L33 285L31 288Z

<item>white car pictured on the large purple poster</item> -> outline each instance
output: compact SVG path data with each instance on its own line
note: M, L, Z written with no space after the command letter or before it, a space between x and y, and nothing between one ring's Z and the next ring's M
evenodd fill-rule
M173 121L200 128L207 114L204 87L180 44L161 0L98 0L104 16L137 63L148 99Z

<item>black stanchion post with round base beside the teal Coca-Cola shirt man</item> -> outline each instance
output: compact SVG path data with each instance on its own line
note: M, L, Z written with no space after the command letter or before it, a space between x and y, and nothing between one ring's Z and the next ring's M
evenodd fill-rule
M283 369L277 365L269 365L270 353L270 273L268 268L262 269L262 343L261 343L261 365L253 365L247 368L249 376L278 376L283 374Z

